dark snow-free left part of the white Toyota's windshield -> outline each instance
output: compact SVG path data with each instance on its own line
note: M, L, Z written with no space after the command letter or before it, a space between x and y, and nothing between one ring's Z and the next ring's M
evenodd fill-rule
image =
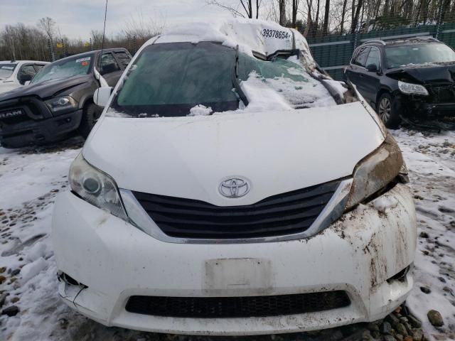
M235 110L234 65L235 50L216 43L149 45L129 70L112 109L133 117L187 116L198 105L213 112Z

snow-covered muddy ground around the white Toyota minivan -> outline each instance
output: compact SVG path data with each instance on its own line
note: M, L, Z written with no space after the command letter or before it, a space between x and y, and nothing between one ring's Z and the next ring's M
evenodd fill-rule
M410 168L420 234L408 305L429 340L455 340L455 132L393 135ZM0 340L209 340L106 328L60 302L50 220L80 146L76 139L50 148L0 148L0 305L4 298L3 308L20 310L0 316ZM429 324L430 309L439 310L443 327ZM290 340L296 338L303 340Z

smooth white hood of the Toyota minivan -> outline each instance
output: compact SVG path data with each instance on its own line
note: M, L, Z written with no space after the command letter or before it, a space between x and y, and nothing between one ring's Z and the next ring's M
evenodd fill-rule
M208 117L102 117L82 153L119 188L228 206L351 175L383 140L355 102ZM228 177L245 178L250 192L220 195Z

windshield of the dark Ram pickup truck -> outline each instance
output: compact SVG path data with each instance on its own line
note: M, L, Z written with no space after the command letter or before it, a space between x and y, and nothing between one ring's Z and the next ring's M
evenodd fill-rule
M58 60L52 64L46 65L38 72L31 84L38 84L46 80L55 80L57 78L68 78L76 75L87 75L92 67L93 55L84 57L75 56L65 60Z

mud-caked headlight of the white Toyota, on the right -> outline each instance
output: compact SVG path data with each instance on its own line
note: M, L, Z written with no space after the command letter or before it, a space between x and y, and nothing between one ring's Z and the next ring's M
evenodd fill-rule
M382 145L355 166L346 209L373 197L397 178L406 182L407 169L400 148L387 134Z

